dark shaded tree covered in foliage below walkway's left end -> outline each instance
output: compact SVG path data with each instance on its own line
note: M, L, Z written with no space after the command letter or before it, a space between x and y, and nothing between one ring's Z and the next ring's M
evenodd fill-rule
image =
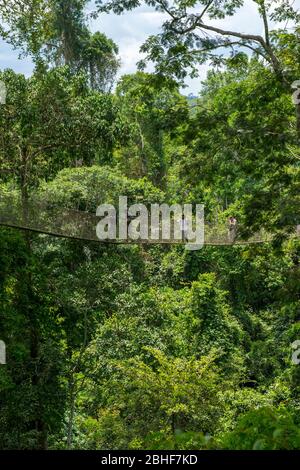
M0 371L0 447L46 449L65 411L62 331L46 293L45 265L28 246L32 239L1 229L0 240L0 329L8 358Z

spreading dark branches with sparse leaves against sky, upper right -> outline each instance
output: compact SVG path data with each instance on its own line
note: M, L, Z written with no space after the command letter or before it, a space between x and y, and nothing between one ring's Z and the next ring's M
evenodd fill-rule
M289 3L282 0L275 2L275 8L264 0L254 1L262 20L263 36L228 31L212 23L212 20L234 15L243 5L242 0L192 0L188 5L185 1L146 1L146 4L154 6L157 11L165 13L167 20L162 25L162 33L150 37L142 50L149 53L149 59L158 63L160 71L169 69L175 75L184 76L184 69L195 63L207 59L219 62L223 53L221 51L217 54L218 49L229 49L235 54L236 51L246 48L260 56L271 65L280 78L283 78L283 68L276 55L269 20L292 19L296 22L299 20L299 14ZM121 14L126 9L131 10L139 6L141 2L98 0L96 3L99 5L99 11Z

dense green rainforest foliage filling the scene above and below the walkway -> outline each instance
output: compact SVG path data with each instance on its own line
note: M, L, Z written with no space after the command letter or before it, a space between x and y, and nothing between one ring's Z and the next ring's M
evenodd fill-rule
M209 223L235 215L243 236L264 228L274 243L187 251L2 227L0 449L300 449L300 148L287 86L300 78L299 28L214 55L223 68L191 105L176 78L195 46L198 63L229 46L224 35L199 44L196 24L174 30L199 18L165 23L144 46L159 73L125 75L112 92L117 47L88 30L88 2L46 3L0 1L2 37L36 62L30 78L0 73L0 190L93 213L120 195L204 203ZM176 18L197 3L222 19L242 2L175 3ZM276 3L273 18L299 20Z

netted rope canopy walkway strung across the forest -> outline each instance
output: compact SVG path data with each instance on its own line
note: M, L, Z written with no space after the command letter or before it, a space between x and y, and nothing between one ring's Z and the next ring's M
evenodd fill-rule
M26 209L21 202L12 198L0 197L0 226L27 230L54 237L71 238L77 240L94 241L109 244L185 244L185 241L169 239L164 240L99 240L96 226L99 217L91 212L58 207L47 202L28 202ZM294 237L300 234L296 232ZM227 224L206 223L204 228L204 244L212 246L247 245L266 243L272 241L272 234L259 231L248 239L235 237L229 233Z

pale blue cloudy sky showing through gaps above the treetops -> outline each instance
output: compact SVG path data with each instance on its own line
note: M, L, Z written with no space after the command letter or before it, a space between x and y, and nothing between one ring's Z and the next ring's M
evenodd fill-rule
M300 8L300 0L294 1L294 7ZM90 3L89 11L93 10L93 2ZM151 34L160 31L160 26L164 20L164 15L155 12L153 8L143 6L126 12L121 16L114 14L101 14L96 20L89 20L89 27L92 32L101 31L112 38L119 47L121 58L121 68L119 76L134 73L137 69L136 63L141 59L139 48ZM262 34L263 26L257 14L257 7L253 0L245 0L244 6L236 15L225 20L214 20L214 26L222 26L223 29L231 29L244 33ZM19 59L18 51L0 40L0 69L12 68L18 73L29 76L32 73L33 65L29 58ZM205 79L209 66L207 64L199 66L199 77L186 79L187 87L185 94L197 94L201 89L201 81ZM149 72L153 66L149 65Z

